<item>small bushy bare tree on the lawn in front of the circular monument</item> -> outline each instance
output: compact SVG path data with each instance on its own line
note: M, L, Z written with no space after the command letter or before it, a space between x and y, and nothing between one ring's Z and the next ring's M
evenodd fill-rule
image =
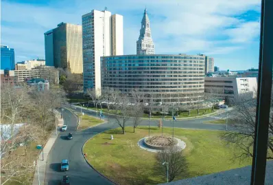
M166 175L168 170L169 182L173 181L176 176L186 175L187 173L187 162L178 146L169 146L158 152L156 160L158 161L157 167L161 169L164 175ZM164 162L167 164L163 166Z

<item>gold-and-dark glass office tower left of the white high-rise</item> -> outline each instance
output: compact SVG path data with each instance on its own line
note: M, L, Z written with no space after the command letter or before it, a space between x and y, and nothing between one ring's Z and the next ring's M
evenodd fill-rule
M82 25L60 23L45 32L45 61L46 65L82 74Z

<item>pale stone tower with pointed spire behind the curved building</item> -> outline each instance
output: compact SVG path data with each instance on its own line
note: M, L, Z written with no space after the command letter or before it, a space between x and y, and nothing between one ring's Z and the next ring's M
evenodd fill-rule
M137 41L137 54L154 54L154 42L152 41L150 20L146 8L141 21L139 40Z

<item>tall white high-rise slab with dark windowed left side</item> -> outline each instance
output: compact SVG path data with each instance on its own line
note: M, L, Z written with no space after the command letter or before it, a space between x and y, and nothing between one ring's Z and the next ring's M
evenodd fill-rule
M123 54L123 17L106 10L92 10L82 16L84 91L95 88L101 94L101 56Z

